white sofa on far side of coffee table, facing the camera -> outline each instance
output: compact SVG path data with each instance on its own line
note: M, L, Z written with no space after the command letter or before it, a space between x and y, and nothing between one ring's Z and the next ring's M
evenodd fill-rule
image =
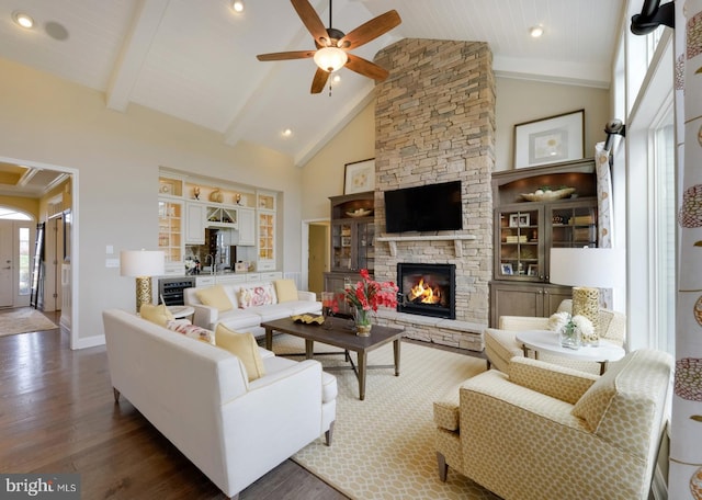
M321 302L317 300L317 296L313 292L297 291L296 300L280 302L275 294L274 282L236 283L218 286L222 286L227 294L229 302L234 306L231 309L222 311L216 307L204 305L197 297L197 291L202 288L185 288L183 291L183 300L185 305L195 309L193 322L199 327L215 330L217 323L223 323L230 330L248 331L256 337L262 337L265 333L265 330L261 328L261 322L263 321L272 321L305 312L321 312ZM242 308L240 300L241 289L262 286L273 289L273 303Z

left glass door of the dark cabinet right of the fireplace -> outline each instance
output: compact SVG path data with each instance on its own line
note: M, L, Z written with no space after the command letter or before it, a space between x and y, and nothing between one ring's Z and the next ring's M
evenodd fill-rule
M544 279L544 236L540 230L542 206L507 206L498 209L497 269L500 280Z

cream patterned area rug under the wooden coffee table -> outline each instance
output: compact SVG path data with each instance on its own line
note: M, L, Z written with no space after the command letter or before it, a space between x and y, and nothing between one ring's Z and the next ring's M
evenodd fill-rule
M304 342L276 336L273 350L304 352ZM338 350L316 343L315 352L321 351ZM344 365L342 355L316 359L325 367ZM392 344L369 353L374 364L393 364ZM434 399L485 368L484 360L403 342L400 376L393 368L369 370L364 401L351 370L330 371L339 385L332 445L317 440L293 459L358 500L498 500L455 470L441 482L433 445Z

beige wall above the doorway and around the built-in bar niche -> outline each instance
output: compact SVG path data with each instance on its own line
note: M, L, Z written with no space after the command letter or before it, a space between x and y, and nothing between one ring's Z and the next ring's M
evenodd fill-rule
M0 60L0 157L76 169L79 183L78 345L101 343L101 312L134 310L134 280L105 268L105 246L156 249L159 166L283 192L279 269L299 271L302 171L292 159Z

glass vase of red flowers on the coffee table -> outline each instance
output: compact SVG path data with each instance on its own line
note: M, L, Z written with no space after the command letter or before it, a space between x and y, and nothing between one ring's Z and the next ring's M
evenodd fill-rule
M353 310L353 320L356 334L367 337L371 334L372 315L378 307L397 307L398 287L393 282L376 282L371 279L367 269L362 269L361 280L355 284L349 283L340 294ZM332 308L339 311L339 303L335 302Z

